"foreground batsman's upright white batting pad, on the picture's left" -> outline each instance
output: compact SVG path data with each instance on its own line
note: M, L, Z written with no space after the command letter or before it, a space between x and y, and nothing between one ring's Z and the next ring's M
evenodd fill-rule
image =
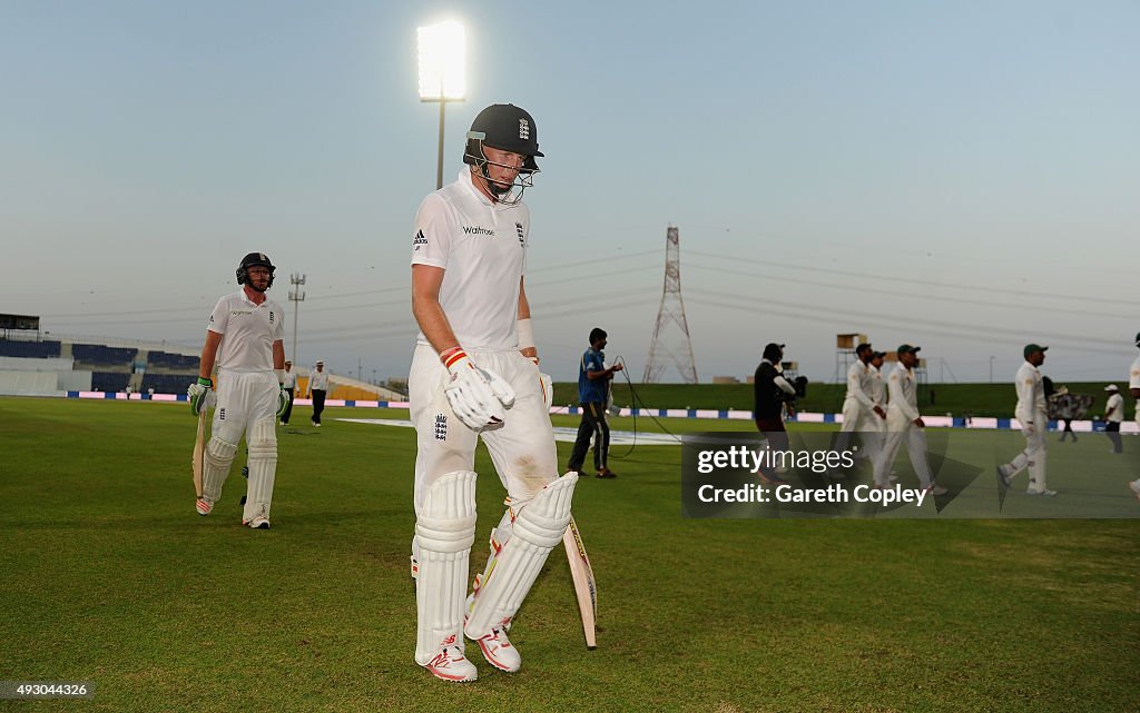
M463 649L467 558L475 541L475 473L455 470L432 483L416 514L416 663L446 646Z

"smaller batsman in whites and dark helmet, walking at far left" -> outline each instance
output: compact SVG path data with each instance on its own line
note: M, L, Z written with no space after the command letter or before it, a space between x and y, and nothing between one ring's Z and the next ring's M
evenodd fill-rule
M218 300L206 326L198 380L187 394L195 415L215 403L210 442L202 462L198 515L210 515L245 436L250 483L242 524L269 528L277 473L277 418L288 405L285 391L285 312L266 296L276 268L263 253L250 253L237 267L242 289ZM218 367L217 398L210 376Z

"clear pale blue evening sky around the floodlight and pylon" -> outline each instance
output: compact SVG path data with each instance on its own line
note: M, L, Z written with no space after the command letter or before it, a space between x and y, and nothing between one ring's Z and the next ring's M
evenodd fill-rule
M445 174L487 104L534 114L544 366L594 326L644 368L666 228L702 380L834 335L934 379L1125 377L1140 330L1140 5L0 5L0 312L199 347L243 254L308 276L301 363L406 375L410 227L434 188L416 27L469 36ZM666 371L666 380L677 372Z

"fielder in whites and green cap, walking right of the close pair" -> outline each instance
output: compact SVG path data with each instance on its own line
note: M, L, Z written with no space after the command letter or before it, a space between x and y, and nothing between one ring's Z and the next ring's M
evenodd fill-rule
M1048 346L1040 344L1027 344L1021 351L1025 362L1015 377L1017 407L1013 409L1013 416L1021 424L1025 450L1008 464L997 466L997 483L1007 489L1015 475L1028 469L1029 486L1025 492L1029 495L1057 494L1056 490L1049 490L1045 484L1045 433L1049 431L1049 415L1044 377L1041 376L1039 368L1045 362L1048 350Z

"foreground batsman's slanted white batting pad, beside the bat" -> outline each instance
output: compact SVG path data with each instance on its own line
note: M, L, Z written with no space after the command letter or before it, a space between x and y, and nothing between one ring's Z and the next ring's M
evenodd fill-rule
M570 523L570 500L577 482L577 473L567 473L538 491L520 509L511 527L511 539L503 543L497 555L491 555L478 583L464 625L469 638L479 639L491 629L510 625L538 579L546 556L562 541L562 533Z

